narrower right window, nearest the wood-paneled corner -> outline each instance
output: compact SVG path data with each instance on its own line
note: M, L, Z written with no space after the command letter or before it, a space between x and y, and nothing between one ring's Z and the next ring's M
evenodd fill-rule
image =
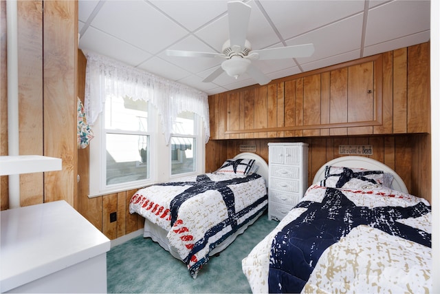
M196 120L193 112L181 112L173 123L171 135L171 175L196 170Z

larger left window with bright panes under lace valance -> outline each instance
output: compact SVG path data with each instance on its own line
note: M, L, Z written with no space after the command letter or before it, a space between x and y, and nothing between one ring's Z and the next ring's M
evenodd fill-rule
M145 182L150 177L148 102L107 98L102 112L100 190Z

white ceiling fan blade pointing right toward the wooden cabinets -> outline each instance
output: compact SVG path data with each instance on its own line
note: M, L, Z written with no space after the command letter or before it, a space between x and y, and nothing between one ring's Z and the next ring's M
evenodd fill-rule
M281 48L270 48L262 50L252 50L249 56L252 58L252 54L257 53L256 59L289 59L298 57L309 57L315 52L314 44L294 45Z

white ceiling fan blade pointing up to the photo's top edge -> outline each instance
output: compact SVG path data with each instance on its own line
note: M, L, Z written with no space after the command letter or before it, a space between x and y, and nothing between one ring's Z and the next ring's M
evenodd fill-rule
M229 39L231 47L244 47L250 19L251 7L241 1L228 2Z

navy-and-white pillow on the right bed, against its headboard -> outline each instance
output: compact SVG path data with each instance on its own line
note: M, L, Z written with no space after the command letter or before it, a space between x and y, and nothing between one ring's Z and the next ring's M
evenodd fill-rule
M320 185L331 188L371 189L373 187L391 187L393 175L384 171L355 169L349 167L325 167L325 178Z

